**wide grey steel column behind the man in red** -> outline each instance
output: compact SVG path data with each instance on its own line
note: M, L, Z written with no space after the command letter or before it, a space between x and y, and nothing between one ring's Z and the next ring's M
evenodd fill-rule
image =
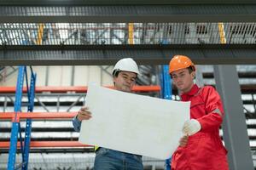
M215 65L214 77L224 103L224 143L232 170L254 169L235 65Z

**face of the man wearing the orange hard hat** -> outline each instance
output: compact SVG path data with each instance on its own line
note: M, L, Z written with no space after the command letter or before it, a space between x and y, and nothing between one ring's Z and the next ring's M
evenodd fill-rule
M189 69L180 69L171 73L173 84L182 93L187 93L193 87L195 71L189 73Z

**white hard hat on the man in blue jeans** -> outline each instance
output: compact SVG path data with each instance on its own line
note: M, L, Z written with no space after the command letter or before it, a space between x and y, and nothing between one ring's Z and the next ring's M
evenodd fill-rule
M113 67L112 75L117 71L131 71L139 74L136 62L131 58L120 59Z

